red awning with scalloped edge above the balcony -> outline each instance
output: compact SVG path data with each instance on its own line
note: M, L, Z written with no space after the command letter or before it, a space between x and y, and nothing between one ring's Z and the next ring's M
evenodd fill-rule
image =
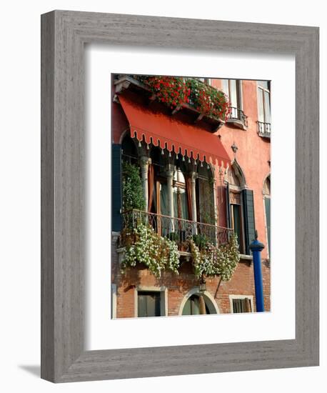
M182 123L161 112L154 112L139 103L119 96L131 129L131 137L147 144L179 151L184 156L213 165L227 166L230 159L218 136L198 126Z

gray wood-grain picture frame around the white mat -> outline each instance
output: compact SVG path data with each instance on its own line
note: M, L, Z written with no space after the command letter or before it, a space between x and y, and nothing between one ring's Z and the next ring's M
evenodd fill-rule
M85 351L86 43L296 56L296 339ZM74 382L318 365L318 61L317 27L76 11L41 16L42 378Z

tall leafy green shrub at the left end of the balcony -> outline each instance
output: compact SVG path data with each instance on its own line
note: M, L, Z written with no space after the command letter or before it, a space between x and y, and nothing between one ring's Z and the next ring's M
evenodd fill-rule
M144 210L145 200L139 166L123 162L123 210Z

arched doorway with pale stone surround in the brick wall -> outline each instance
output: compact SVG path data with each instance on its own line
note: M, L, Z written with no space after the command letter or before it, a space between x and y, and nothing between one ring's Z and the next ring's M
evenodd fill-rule
M201 295L206 304L206 314L219 314L219 309L213 296L208 291L202 293L198 287L195 287L183 297L178 315L200 314L199 298Z

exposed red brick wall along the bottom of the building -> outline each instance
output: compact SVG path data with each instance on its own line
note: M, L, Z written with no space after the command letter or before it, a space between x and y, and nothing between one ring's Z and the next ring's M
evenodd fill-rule
M191 262L187 262L186 260L181 266L180 274L176 275L165 272L160 279L156 279L141 264L128 269L125 274L121 274L118 269L118 259L114 256L114 254L117 255L114 245L112 254L115 259L111 272L112 282L117 285L117 318L134 317L136 287L166 287L168 289L168 315L178 315L183 298L191 289L198 287L198 280L195 279L192 273ZM266 261L262 263L262 272L265 310L270 311L270 267L268 267ZM206 279L206 288L212 297L215 297L218 282L218 277ZM253 311L255 311L256 297L253 280L253 264L251 261L239 262L232 279L229 282L221 282L215 299L221 314L231 312L230 294L252 295Z

